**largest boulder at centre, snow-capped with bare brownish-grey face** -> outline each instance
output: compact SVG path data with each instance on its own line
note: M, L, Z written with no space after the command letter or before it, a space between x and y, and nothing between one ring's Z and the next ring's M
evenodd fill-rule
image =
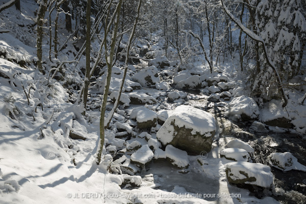
M186 150L189 154L209 152L216 132L212 114L190 106L179 106L157 132L163 145Z

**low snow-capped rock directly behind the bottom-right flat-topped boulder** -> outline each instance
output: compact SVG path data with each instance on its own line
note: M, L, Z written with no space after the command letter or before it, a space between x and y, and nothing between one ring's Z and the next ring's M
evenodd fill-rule
M247 162L249 154L246 150L240 148L226 148L220 151L220 157L236 162Z

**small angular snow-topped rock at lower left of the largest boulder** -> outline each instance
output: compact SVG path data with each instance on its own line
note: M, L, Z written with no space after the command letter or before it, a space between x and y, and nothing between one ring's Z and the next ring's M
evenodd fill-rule
M131 155L131 162L135 164L145 165L154 158L154 153L150 147L145 144Z

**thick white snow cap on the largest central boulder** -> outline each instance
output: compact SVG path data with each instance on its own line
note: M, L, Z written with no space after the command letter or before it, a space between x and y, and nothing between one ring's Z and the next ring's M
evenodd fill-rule
M191 134L199 133L206 137L211 137L210 132L216 131L216 124L214 117L200 109L181 105L176 107L173 114L168 117L161 129L157 132L157 138L163 143L167 144L172 141L174 135L174 127L171 123L174 122L176 126L191 129Z

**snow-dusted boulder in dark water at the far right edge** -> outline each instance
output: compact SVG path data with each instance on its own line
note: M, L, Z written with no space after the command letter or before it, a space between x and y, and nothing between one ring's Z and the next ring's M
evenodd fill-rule
M290 152L275 152L268 156L269 164L283 171L306 171L306 166L300 164Z

